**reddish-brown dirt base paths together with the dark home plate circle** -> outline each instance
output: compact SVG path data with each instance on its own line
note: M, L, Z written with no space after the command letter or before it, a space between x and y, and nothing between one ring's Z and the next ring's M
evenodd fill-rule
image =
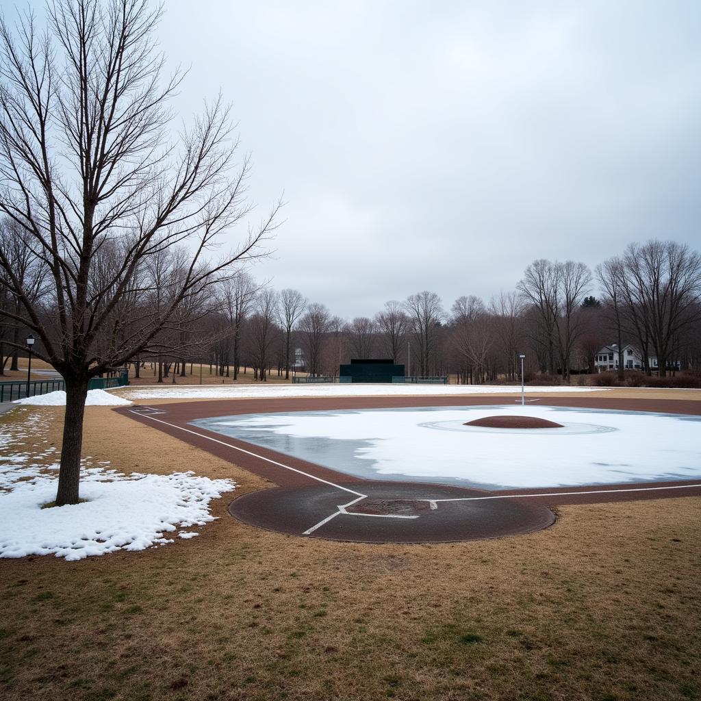
M512 397L328 397L177 402L115 409L279 485L236 498L232 516L264 529L311 538L369 543L437 543L529 533L554 522L549 507L701 495L701 483L636 483L574 488L480 491L351 477L320 465L192 426L197 418L285 411L485 406ZM701 415L701 402L540 397L550 406Z

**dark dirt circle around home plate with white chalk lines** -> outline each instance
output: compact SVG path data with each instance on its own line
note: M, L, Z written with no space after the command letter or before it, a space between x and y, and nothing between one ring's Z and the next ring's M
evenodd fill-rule
M441 543L531 533L554 514L493 492L418 482L277 487L241 496L229 513L259 528L359 543ZM487 497L487 498L486 498Z

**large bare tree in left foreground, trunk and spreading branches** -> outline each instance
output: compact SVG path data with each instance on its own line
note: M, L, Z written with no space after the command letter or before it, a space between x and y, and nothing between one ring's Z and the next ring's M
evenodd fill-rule
M182 130L179 146L169 142L168 100L182 74L161 87L160 14L146 0L56 0L41 36L31 15L20 19L16 38L0 22L0 211L46 262L56 309L42 317L0 251L22 306L3 314L39 336L39 357L65 380L57 505L79 501L90 378L148 349L179 305L259 254L274 226L277 207L237 250L212 258L217 235L250 212L249 163L236 170L237 142L220 98ZM93 266L108 241L114 265L95 284ZM153 289L139 273L176 245L190 254L167 301L135 311L128 302Z

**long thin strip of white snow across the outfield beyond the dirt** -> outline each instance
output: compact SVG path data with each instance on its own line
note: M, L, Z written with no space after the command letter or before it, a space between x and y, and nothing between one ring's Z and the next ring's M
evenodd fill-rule
M526 387L526 394L547 392L608 392L604 387ZM183 387L145 386L123 391L137 399L253 399L255 397L435 397L452 395L520 394L521 388L498 385L403 385L403 384L273 384L198 385Z

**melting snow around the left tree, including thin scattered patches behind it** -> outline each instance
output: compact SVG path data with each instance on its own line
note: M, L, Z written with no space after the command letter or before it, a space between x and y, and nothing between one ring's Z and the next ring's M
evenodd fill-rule
M20 409L19 411L27 411ZM115 550L144 550L193 538L192 526L215 519L209 504L235 483L230 479L172 475L123 475L107 462L84 458L81 498L87 501L42 509L56 496L56 449L48 446L41 416L0 430L0 557L55 554L67 560Z

